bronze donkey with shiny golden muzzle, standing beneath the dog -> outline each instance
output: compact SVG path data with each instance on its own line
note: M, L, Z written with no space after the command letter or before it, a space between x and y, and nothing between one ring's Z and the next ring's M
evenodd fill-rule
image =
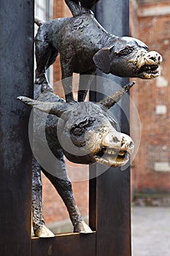
M128 162L129 154L134 150L134 142L128 135L117 132L117 123L107 110L115 105L133 84L124 86L117 93L97 103L67 103L48 89L39 95L38 101L18 97L20 101L36 108L33 132L34 155L39 163L34 158L32 212L35 236L42 238L54 236L45 227L42 216L41 170L63 199L69 211L74 232L92 233L90 227L83 221L74 201L72 183L67 176L64 155L70 161L82 164L99 162L117 167ZM36 87L39 89L37 85ZM46 117L42 116L43 112L47 113ZM42 138L44 130L45 138ZM45 140L57 162L47 158ZM51 171L50 168L53 170Z

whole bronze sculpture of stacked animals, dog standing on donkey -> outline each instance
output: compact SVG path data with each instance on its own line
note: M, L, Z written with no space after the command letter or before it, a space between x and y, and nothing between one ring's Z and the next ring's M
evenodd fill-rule
M74 17L61 18L44 23L36 19L39 26L36 34L36 80L34 98L18 97L20 101L37 109L34 119L39 124L38 140L34 140L39 162L45 159L44 141L41 139L45 129L46 140L58 165L53 165L55 175L45 170L34 158L32 211L34 234L39 237L53 237L45 227L42 217L41 170L50 179L63 199L74 226L74 232L92 233L83 221L74 201L72 183L66 173L64 155L72 162L92 164L99 162L112 167L125 165L134 149L133 140L128 135L117 132L115 120L107 110L128 91L134 83L125 86L116 94L98 103L83 102L90 87L91 77L84 81L80 76L78 102L72 94L72 73L80 75L96 74L98 67L105 73L111 72L120 77L155 78L160 75L158 66L161 55L149 52L146 45L131 37L116 37L105 31L93 17L91 8L96 1L66 0ZM76 46L76 47L75 47ZM47 82L46 69L61 54L61 69L66 102L53 94ZM86 84L84 85L84 82ZM85 87L84 87L85 86ZM80 103L81 102L81 103ZM45 127L39 110L47 113ZM61 123L59 120L62 120ZM58 124L60 131L58 133ZM68 141L74 149L68 148Z

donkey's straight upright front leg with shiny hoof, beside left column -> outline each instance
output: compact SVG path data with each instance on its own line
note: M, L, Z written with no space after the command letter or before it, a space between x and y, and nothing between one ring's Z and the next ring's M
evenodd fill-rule
M54 237L55 235L45 227L42 216L42 179L41 167L36 159L33 159L32 175L32 215L34 235L41 238Z

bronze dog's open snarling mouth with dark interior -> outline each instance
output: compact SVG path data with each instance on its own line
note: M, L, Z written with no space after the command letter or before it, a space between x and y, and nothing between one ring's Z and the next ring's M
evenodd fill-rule
M138 76L144 79L158 78L161 75L161 71L158 69L158 64L144 64L138 72Z

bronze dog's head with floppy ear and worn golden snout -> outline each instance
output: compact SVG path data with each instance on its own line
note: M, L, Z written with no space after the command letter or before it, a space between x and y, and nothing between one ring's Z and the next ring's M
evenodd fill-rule
M161 75L162 56L133 37L117 37L112 45L98 50L93 61L101 71L119 77L151 79Z

